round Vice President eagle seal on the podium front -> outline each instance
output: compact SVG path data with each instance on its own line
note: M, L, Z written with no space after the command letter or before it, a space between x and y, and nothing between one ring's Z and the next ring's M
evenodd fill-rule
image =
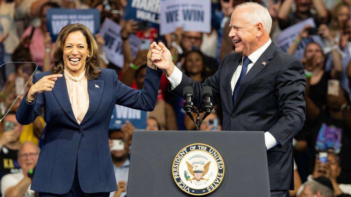
M180 150L172 165L174 181L192 195L205 195L218 188L224 176L223 159L207 144L190 144Z

